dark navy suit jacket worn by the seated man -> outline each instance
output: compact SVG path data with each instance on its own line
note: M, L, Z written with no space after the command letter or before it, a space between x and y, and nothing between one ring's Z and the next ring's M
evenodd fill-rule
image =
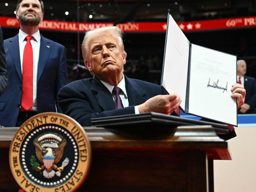
M135 114L134 106L156 95L166 94L159 85L124 76L129 107L115 109L113 97L98 78L74 81L58 93L58 102L64 114L82 126L91 126L91 118ZM172 115L177 114L173 112Z

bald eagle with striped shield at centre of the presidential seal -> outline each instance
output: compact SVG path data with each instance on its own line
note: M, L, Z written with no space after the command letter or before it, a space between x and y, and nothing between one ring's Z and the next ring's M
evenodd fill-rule
M35 154L42 164L37 166L35 171L43 172L43 176L47 179L51 179L54 175L60 176L64 167L69 163L69 159L66 158L61 166L57 166L63 156L66 144L65 138L57 133L46 133L35 138L33 141Z

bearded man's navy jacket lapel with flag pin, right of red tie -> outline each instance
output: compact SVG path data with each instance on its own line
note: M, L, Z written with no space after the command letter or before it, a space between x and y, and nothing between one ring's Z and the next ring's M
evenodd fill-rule
M38 69L37 69L37 83L43 73L43 70L45 68L46 61L49 57L51 50L50 42L45 39L41 35L41 41L40 41L40 50L39 50L39 60L38 60Z

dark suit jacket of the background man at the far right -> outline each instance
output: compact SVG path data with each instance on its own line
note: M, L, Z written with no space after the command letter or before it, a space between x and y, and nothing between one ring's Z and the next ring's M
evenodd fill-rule
M255 78L245 76L244 87L246 90L245 103L250 105L249 113L255 113L256 107L256 80Z

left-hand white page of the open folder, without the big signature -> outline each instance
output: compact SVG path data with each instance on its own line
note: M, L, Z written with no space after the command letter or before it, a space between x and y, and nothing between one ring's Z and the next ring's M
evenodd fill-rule
M169 92L180 95L180 106L185 110L189 41L169 15L165 58L161 85Z

